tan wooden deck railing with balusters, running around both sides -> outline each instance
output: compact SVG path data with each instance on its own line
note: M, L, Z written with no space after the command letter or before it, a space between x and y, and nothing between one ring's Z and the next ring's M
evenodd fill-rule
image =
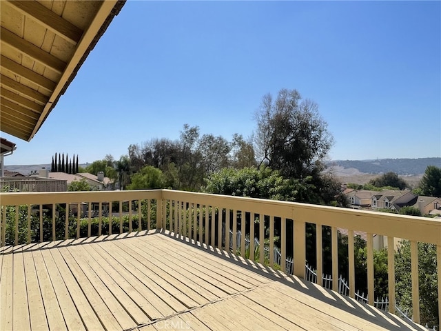
M136 190L111 192L57 192L57 193L3 193L1 205L1 245L23 243L23 226L26 224L25 242L43 241L43 234L48 232L43 221L50 220L51 237L45 240L70 239L72 227L76 227L76 238L90 237L115 232L132 232L158 228L168 230L175 237L185 238L195 244L211 245L220 250L229 250L229 230L240 230L249 237L257 237L260 243L269 241L269 261L274 267L274 233L280 229L280 252L285 261L287 252L294 258L294 275L305 277L306 224L316 225L316 265L317 273L322 274L323 247L322 226L331 227L332 278L338 279L338 231L348 229L349 261L349 296L355 297L354 266L354 231L367 232L367 288L368 301L374 301L373 270L373 234L387 236L388 274L389 274L389 310L395 309L395 269L394 239L408 239L411 242L411 279L413 319L420 322L419 284L418 284L418 242L435 244L438 263L438 297L441 298L441 221L423 217L410 217L398 214L370 212L334 208L305 203L291 203L243 197L227 197L216 194L182 192L174 190ZM86 205L85 215L81 206ZM98 205L98 212L92 211ZM108 216L103 211L108 207ZM76 208L74 208L76 206ZM113 206L113 208L111 207ZM57 213L57 208L65 213ZM14 212L21 210L21 212ZM76 210L76 214L72 214ZM105 216L104 216L105 214ZM123 216L125 214L125 216ZM12 216L11 216L12 215ZM115 216L116 215L116 216ZM83 217L85 216L85 217ZM14 219L10 219L14 217ZM125 221L124 220L127 220ZM23 220L24 219L24 220ZM59 222L63 221L64 232L60 238ZM103 220L107 228L103 227ZM116 224L115 224L116 222ZM31 225L39 228L39 238L31 236ZM92 231L92 223L98 223L98 232ZM127 224L126 224L127 223ZM134 223L137 225L134 226ZM265 226L265 223L267 226ZM81 234L81 226L87 224L87 233ZM125 225L124 225L125 224ZM145 224L143 226L142 224ZM113 227L112 227L113 225ZM116 231L112 230L116 225ZM118 227L119 225L119 227ZM8 236L6 235L8 232ZM34 231L35 232L35 231ZM12 235L12 234L13 235ZM9 239L8 239L9 238ZM8 239L8 240L7 240ZM236 236L232 237L232 247L238 247ZM23 240L22 240L23 241ZM232 252L245 257L245 235L241 236L240 252ZM291 245L291 247L288 247ZM254 241L249 244L249 251L254 252ZM249 259L264 263L264 251L258 257L253 253ZM285 263L280 265L285 271ZM318 277L318 283L321 278ZM321 285L321 284L320 284ZM333 289L338 290L338 282ZM441 305L439 305L441 316Z

